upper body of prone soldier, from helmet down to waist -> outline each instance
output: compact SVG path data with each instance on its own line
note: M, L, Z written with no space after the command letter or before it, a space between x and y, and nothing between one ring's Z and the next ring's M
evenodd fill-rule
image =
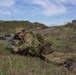
M15 29L15 35L17 35L22 42L22 45L14 42L14 46L12 47L12 49L15 53L41 56L42 52L46 52L46 54L53 52L53 50L51 49L51 43L43 40L42 36L39 34L35 35L32 32L25 32L25 29L23 27L17 27ZM43 51L42 48L44 48L44 46L46 48L49 48L48 51L46 51L45 49Z

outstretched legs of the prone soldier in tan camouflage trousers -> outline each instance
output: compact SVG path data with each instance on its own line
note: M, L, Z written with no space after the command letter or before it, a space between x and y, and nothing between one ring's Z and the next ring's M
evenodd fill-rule
M63 53L63 52L53 52L48 55L43 55L45 60L52 62L54 64L63 64L65 59L73 59L76 58L76 53Z

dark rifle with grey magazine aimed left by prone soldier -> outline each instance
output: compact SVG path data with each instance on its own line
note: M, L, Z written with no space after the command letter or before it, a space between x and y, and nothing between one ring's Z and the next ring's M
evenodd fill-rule
M3 37L0 37L0 40L6 40L6 47L9 45L9 41L13 42L16 39L19 40L18 36L15 34L6 34Z

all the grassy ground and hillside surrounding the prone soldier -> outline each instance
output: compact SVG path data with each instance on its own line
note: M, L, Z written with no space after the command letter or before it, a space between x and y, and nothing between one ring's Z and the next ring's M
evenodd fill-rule
M29 21L1 21L0 36L12 33L16 26L23 26L26 30L43 35L57 52L76 53L75 21L54 27ZM10 52L10 44L6 48L5 40L0 40L0 75L76 75L76 63L73 67L74 70L68 70L64 66L47 63L38 57L13 54Z

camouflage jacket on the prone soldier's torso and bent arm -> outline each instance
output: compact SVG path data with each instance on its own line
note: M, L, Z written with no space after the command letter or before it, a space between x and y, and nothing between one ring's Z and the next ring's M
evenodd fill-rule
M35 55L39 52L39 46L41 45L41 42L38 41L32 32L26 32L25 35L21 38L21 42L23 44L16 48L16 52L28 50L28 53L32 55Z

